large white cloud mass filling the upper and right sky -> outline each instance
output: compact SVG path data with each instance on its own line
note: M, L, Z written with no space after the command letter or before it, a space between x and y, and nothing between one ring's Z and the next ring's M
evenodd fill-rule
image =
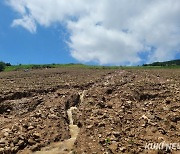
M100 64L168 60L180 52L179 0L6 0L20 15L12 25L65 23L71 55ZM150 50L151 47L155 50Z

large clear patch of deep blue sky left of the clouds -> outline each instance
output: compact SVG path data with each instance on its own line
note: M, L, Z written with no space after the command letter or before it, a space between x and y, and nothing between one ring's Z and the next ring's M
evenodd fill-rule
M18 16L0 2L0 60L12 64L76 63L65 43L68 33L62 25L38 26L35 34L23 27L11 27Z

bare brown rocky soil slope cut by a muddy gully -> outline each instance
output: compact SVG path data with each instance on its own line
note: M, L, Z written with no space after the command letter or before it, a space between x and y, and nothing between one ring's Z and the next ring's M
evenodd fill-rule
M180 153L180 69L0 73L0 154Z

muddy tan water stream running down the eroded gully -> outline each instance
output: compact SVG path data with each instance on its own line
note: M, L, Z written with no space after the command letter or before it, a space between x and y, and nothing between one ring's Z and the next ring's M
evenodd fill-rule
M80 102L83 102L85 90L80 95ZM79 133L79 127L73 122L73 111L77 110L77 107L70 107L67 110L69 118L69 131L71 138L63 142L56 142L47 147L41 149L41 151L35 152L35 154L71 154L73 153L73 146Z

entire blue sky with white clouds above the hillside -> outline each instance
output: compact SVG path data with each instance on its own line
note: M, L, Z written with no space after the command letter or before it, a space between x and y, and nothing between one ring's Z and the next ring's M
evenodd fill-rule
M0 60L138 65L180 58L180 0L1 0Z

